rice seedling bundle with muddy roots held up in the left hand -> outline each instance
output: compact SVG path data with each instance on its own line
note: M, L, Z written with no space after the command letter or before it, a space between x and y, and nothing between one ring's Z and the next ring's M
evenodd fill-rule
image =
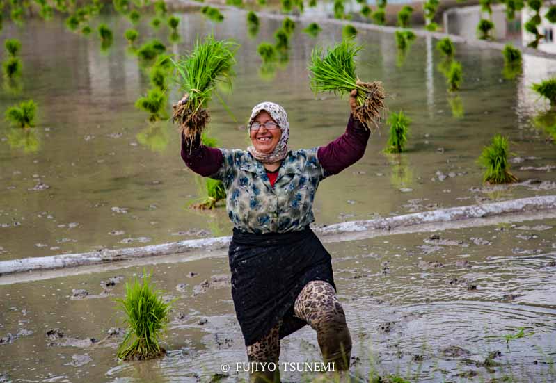
M193 140L205 129L209 120L206 108L216 82L231 83L237 48L232 40L214 40L209 35L202 42L197 40L193 51L174 63L186 100L174 106L172 120L180 124L187 140Z

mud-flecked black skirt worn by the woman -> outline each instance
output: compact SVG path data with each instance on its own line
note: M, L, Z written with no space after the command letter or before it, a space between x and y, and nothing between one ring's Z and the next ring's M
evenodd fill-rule
M228 257L245 345L259 341L280 319L280 339L306 325L294 317L294 303L308 282L326 281L336 289L331 256L308 226L284 234L234 229Z

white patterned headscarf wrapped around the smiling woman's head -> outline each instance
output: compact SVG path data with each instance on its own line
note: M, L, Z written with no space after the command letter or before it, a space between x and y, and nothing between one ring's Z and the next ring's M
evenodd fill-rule
M251 127L253 124L253 120L261 111L267 111L272 120L278 124L282 130L282 136L280 137L280 141L278 141L278 145L274 148L272 153L261 153L257 152L257 149L251 145L247 148L248 152L251 153L251 156L255 157L258 161L262 163L275 163L277 161L282 161L287 154L288 147L287 147L287 139L289 138L289 122L287 122L287 114L284 108L278 104L274 104L273 102L261 102L260 104L255 105L253 110L251 111L251 117L249 117L249 124L248 127Z

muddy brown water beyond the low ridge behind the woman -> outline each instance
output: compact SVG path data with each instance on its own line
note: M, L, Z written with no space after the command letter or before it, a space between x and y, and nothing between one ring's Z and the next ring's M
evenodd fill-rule
M149 87L148 76L122 38L127 21L102 18L115 35L106 52L100 50L96 35L70 33L60 19L46 24L33 20L22 29L10 23L4 26L3 35L22 41L24 77L19 95L0 91L0 108L33 98L39 105L39 123L25 137L2 122L0 259L230 233L223 209L211 213L187 209L200 196L202 181L181 161L176 127L169 122L149 126L145 113L134 108L134 101ZM227 13L225 22L216 25L198 14L184 14L182 42L168 45L171 51L184 53L196 35L212 28L217 38L241 43L233 92L223 93L238 123L215 101L212 135L224 147L246 147L247 133L241 125L253 105L272 100L289 113L292 147L333 140L344 129L347 101L332 95L315 100L305 68L315 43L340 40L340 27L325 26L313 40L297 26L289 64L273 79L263 80L254 52L259 42L273 39L279 23L261 24L259 35L252 39L241 13ZM146 19L139 30L141 41L148 36L168 39L166 28L154 32ZM463 63L464 81L454 98L448 97L438 70L436 41L416 40L403 60L392 35L360 31L357 39L365 45L359 76L383 81L390 111L403 110L413 121L408 152L382 154L388 128L381 127L359 163L321 184L315 202L317 222L554 193L555 185L549 182L479 190L482 175L475 163L493 134L504 133L518 157L512 164L517 177L553 179L553 168L542 170L555 163L553 143L530 122L546 106L529 89L531 79L537 81L555 67L552 61L527 60L525 77L507 81L501 74L500 52L458 46L456 58ZM170 92L170 99L177 97L175 90Z

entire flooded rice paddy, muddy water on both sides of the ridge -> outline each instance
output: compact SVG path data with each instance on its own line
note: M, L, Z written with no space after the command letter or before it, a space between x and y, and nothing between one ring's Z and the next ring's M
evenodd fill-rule
M342 133L347 100L315 99L305 69L315 43L340 40L340 26L323 25L313 40L298 24L289 62L262 78L255 49L273 39L280 22L261 19L259 34L249 38L239 11L225 13L221 24L198 13L180 16L182 42L168 45L174 53L211 30L241 44L232 92L221 90L237 122L218 102L211 107L210 131L221 146L248 145L245 120L263 100L285 107L294 148L324 145ZM180 158L177 128L149 124L134 108L149 84L122 37L127 21L102 18L115 35L105 52L93 36L67 31L61 19L4 25L4 35L22 41L24 76L19 95L0 91L0 109L33 98L39 123L29 137L5 123L0 132L0 260L230 234L224 209L187 208L202 182ZM146 23L139 31L145 40L168 38L164 28L154 32ZM405 57L393 35L359 31L357 40L365 46L360 78L383 81L390 111L412 120L408 152L386 156L386 127L374 133L361 161L321 184L318 224L556 193L553 138L532 123L546 105L529 89L554 74L554 61L525 56L523 77L509 81L500 51L456 45L464 80L453 97L438 70L436 40L416 40ZM179 98L173 90L170 100ZM520 184L482 186L475 160L495 133L509 138ZM326 245L355 343L354 379L376 371L424 382L553 381L555 225L538 220ZM222 363L246 359L225 256L151 269L168 298L178 298L166 357L117 361L121 323L113 298L143 268L98 268L1 286L0 382L208 381ZM506 340L521 327L522 337ZM308 327L283 340L280 361L319 357ZM241 378L246 374L232 371L223 379ZM301 377L284 373L283 380Z

